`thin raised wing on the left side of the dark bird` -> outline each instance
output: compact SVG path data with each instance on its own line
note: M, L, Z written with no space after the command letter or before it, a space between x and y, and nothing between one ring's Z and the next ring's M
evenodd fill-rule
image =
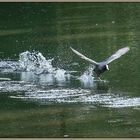
M77 54L78 56L80 56L80 58L82 58L82 59L84 59L84 60L86 60L86 61L88 61L88 62L90 62L90 63L92 63L92 64L94 64L94 65L98 65L98 64L99 64L98 62L96 62L96 61L94 61L94 60L92 60L92 59L90 59L90 58L87 58L87 57L84 56L83 54L81 54L81 53L79 53L78 51L74 50L72 47L70 47L70 48L72 49L72 51L73 51L75 54Z

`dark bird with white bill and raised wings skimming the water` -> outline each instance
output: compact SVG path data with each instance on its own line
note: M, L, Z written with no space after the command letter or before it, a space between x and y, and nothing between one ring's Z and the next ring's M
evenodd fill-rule
M111 55L109 58L107 58L101 62L96 62L96 61L84 56L83 54L79 53L78 51L74 50L72 47L70 47L70 48L75 54L80 56L80 58L82 58L94 65L93 71L96 73L97 77L100 77L100 75L103 72L105 72L106 70L109 70L109 68L108 68L109 63L120 58L122 55L124 55L125 53L127 53L130 50L129 47L121 48L118 51L116 51L113 55Z

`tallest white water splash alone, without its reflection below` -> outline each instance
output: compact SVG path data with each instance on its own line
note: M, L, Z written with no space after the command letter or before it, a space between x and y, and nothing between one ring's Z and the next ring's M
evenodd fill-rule
M40 52L23 52L19 55L19 64L23 71L41 73L53 73L55 68L52 66L52 60L46 58Z

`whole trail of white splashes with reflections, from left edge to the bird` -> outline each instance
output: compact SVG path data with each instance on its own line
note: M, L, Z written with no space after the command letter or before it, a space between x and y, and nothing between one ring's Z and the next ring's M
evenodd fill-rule
M55 68L52 65L53 59L47 60L42 53L38 51L25 51L19 54L19 61L1 61L0 71L4 73L21 73L21 80L27 82L38 82L39 84L63 86L71 77L78 79L81 86L86 88L94 87L93 66L79 77L73 76L75 71L66 71L64 69ZM73 64L73 63L72 63Z

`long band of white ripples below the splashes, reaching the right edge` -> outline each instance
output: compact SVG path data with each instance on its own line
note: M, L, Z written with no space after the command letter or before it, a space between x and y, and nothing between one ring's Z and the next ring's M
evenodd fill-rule
M26 101L34 101L39 104L53 103L84 103L100 105L103 107L122 108L140 106L139 97L127 97L113 94L111 92L98 94L91 89L44 89L35 85L16 84L16 91L24 91L24 95L10 95L10 98L18 98ZM11 84L8 90L13 91L15 87ZM20 87L20 88L18 88ZM123 93L122 93L123 94Z

